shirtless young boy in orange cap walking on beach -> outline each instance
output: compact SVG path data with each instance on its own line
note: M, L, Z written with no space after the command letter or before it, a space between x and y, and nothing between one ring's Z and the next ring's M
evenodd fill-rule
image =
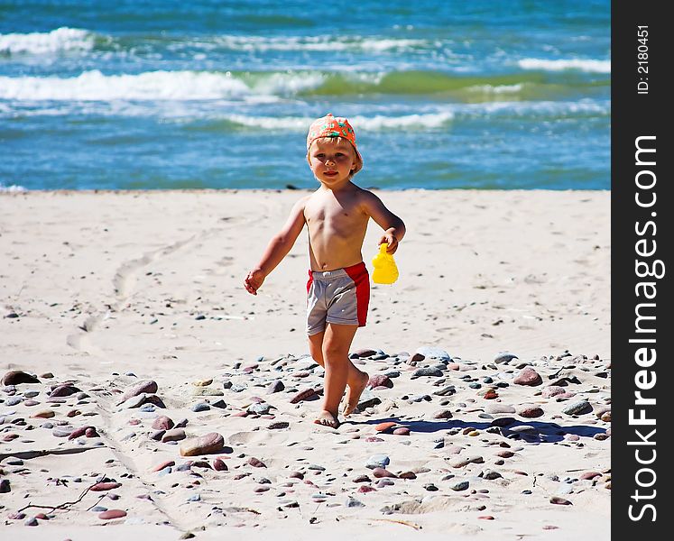
M245 289L257 294L266 276L290 252L300 231L309 229L309 282L307 334L311 356L325 369L323 409L316 423L337 428L344 390L344 415L358 405L369 376L348 358L359 326L365 326L370 281L361 249L370 218L380 225L395 253L405 234L402 220L379 197L351 181L363 167L355 146L355 132L346 118L326 115L316 120L307 136L307 161L320 188L302 197L267 246L257 267L244 280Z

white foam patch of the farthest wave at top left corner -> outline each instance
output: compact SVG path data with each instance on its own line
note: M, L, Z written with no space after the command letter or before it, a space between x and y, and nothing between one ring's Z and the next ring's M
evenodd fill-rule
M57 28L51 32L0 34L0 52L47 54L64 50L91 50L94 34L87 30Z

